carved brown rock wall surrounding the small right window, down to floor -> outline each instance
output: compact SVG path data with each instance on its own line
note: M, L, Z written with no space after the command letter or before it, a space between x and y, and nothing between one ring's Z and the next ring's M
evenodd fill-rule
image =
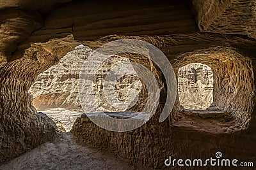
M218 151L227 158L255 160L253 141L256 135L255 131L250 130L255 121L254 41L216 34L179 34L111 36L110 40L108 37L86 41L84 45L97 48L102 40L120 38L143 39L156 45L172 63L176 76L179 67L192 62L210 66L214 74L212 105L227 113L222 118L188 116L180 110L177 97L168 120L158 122L163 109L160 104L156 114L145 125L129 132L100 129L86 115L82 115L77 118L71 131L79 141L155 168L166 168L164 160L170 155L175 159L207 159ZM243 48L239 45L243 45Z

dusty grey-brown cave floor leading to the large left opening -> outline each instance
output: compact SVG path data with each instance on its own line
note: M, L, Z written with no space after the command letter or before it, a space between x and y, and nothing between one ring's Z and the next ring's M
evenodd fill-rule
M10 169L150 169L133 164L110 153L82 146L72 135L59 132L52 141L6 162L1 170Z

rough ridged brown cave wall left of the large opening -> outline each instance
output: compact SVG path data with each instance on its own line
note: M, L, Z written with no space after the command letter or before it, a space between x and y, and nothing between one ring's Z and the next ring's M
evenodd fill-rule
M68 39L72 36L65 41ZM51 43L58 46L50 51L47 46L52 47ZM38 74L73 49L72 44L68 45L61 45L61 39L49 41L44 47L34 44L21 59L0 63L0 164L55 138L56 124L46 115L35 113L28 90Z

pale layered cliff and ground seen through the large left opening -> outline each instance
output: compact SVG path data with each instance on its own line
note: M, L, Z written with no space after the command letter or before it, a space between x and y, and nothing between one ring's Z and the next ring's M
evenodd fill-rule
M95 67L95 63L99 60L88 62L89 65L83 67L92 52L93 50L86 46L77 46L58 64L41 73L29 89L36 110L61 122L65 131L70 131L76 118L83 112L125 111L126 105L129 106L129 103L140 93L142 84L138 77L129 74L136 73L129 64L129 59L115 55L99 67ZM121 67L116 67L118 64L121 64ZM87 99L88 102L83 99L85 101L83 108L78 92L81 69L85 69L86 76L93 77L83 84L91 90L82 91L85 99L90 97L88 94L92 97ZM95 71L95 74L91 75L91 71ZM115 76L115 82L111 81L111 76ZM95 109L95 106L99 106L98 109Z

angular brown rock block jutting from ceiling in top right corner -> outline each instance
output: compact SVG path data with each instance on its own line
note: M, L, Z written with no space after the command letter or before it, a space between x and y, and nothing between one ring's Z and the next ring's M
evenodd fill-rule
M193 0L192 4L200 31L256 38L256 1Z

